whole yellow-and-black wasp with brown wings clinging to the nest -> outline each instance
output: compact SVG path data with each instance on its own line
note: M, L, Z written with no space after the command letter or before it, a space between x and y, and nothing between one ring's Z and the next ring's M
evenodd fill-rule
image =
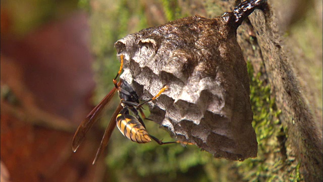
M133 90L131 85L121 78L119 79L119 82L117 81L117 78L122 72L124 55L121 55L120 59L121 59L120 69L116 77L113 79L113 83L115 87L110 91L109 94L107 94L102 99L102 101L96 107L94 107L94 109L86 116L86 118L82 121L82 123L77 128L72 142L73 152L76 152L76 150L82 143L85 137L85 134L92 127L94 122L99 118L98 116L101 114L103 108L111 101L116 91L119 92L119 97L121 102L118 105L114 114L112 115L109 125L105 129L103 138L97 150L93 164L95 164L97 158L99 157L103 149L107 146L107 143L109 142L112 131L114 130L116 125L121 131L121 133L133 142L148 143L148 142L151 142L151 139L152 139L155 142L157 142L159 145L174 144L174 143L192 145L192 143L181 142L181 141L162 142L161 140L158 140L154 136L148 134L145 124L141 119L141 117L139 116L138 111L140 112L142 118L146 119L144 113L142 112L142 105L146 104L147 102L155 100L157 97L160 96L161 93L165 92L165 90L168 89L168 86L167 85L164 86L163 88L160 89L159 93L156 96L140 104L139 97L137 93ZM133 113L133 115L129 114L129 110Z

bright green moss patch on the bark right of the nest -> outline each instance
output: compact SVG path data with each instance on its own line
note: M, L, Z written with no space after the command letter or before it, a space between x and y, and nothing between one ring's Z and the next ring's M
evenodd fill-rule
M238 172L246 181L301 181L299 163L289 156L285 141L287 126L279 120L281 110L271 98L270 85L260 79L260 73L253 76L253 68L247 62L250 76L250 101L254 118L252 125L257 134L258 156L236 163ZM286 152L287 150L287 152ZM286 170L289 172L286 173Z

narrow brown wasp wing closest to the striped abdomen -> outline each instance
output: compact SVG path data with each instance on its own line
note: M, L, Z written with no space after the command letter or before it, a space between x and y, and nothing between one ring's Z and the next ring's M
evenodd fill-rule
M111 120L110 120L110 123L109 123L109 125L107 125L107 127L105 129L103 138L101 140L101 144L100 144L99 148L97 149L95 158L94 158L93 163L92 163L93 165L95 164L96 160L98 159L98 157L100 156L102 151L104 151L105 147L107 146L107 143L110 140L112 131L115 129L115 127L117 125L116 118L117 118L119 112L122 110L122 108L123 107L121 106L121 103L120 103L119 106L117 107L116 111L113 113L113 115L111 117Z

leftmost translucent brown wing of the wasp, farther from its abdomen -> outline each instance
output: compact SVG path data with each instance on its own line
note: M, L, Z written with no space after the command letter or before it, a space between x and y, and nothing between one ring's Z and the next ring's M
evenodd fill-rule
M101 114L102 109L111 101L114 94L116 93L117 88L114 87L109 94L107 94L102 101L95 106L95 108L86 116L86 118L81 122L79 127L77 128L73 141L72 141L72 150L73 152L76 152L76 150L81 145L85 134L87 131L92 127L94 122L99 118L99 115Z

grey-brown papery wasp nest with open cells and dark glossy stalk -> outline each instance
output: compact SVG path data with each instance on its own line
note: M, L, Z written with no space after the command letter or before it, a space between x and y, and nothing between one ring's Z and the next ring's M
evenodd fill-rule
M265 2L243 2L216 18L178 19L115 43L118 55L127 58L122 76L137 85L137 93L171 88L150 104L152 120L215 157L256 157L249 77L236 30Z

